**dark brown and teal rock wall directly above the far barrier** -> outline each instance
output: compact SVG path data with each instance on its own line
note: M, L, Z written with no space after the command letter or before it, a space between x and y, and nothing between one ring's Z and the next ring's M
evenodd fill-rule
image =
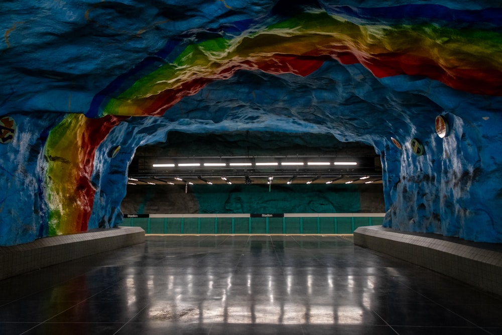
M382 185L129 186L124 213L384 212Z

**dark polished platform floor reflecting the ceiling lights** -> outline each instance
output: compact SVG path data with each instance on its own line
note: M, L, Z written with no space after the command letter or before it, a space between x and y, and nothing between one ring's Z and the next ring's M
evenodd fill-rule
M502 300L340 236L147 236L0 281L0 334L502 334Z

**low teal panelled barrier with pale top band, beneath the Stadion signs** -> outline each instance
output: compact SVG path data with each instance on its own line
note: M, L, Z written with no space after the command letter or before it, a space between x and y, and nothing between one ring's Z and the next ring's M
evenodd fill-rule
M352 234L357 227L382 225L384 216L385 213L286 213L282 217L125 214L120 226L141 227L146 234Z

